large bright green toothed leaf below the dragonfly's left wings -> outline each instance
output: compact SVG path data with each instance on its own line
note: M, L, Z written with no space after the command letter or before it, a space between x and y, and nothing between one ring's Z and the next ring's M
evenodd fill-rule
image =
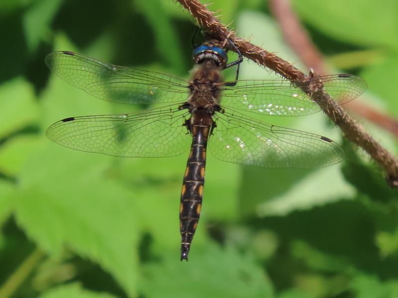
M134 193L105 179L111 158L58 148L37 149L19 177L16 219L48 253L64 246L98 262L129 295L138 279Z

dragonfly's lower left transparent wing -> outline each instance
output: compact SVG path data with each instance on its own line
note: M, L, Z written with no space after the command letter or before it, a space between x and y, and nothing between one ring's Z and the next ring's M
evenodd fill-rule
M183 126L189 115L170 105L133 114L70 117L47 129L62 146L124 157L166 157L189 151L191 136Z

